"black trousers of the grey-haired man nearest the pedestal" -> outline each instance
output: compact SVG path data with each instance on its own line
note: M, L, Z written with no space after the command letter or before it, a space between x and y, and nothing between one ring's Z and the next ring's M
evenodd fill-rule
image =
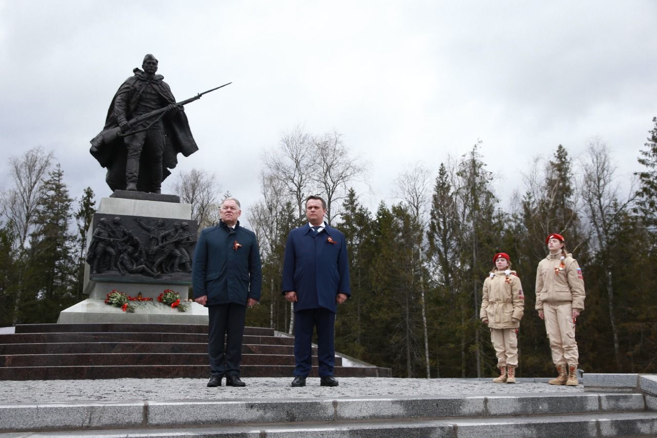
M246 306L242 304L217 304L208 306L210 324L208 326L208 354L212 376L240 375L242 362L242 337ZM223 349L223 335L226 335L226 349Z

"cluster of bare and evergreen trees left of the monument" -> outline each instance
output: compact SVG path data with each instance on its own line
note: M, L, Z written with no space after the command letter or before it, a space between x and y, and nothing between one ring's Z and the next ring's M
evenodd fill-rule
M40 147L9 166L12 185L0 197L0 326L57 322L83 299L94 193L87 187L76 208L62 168Z

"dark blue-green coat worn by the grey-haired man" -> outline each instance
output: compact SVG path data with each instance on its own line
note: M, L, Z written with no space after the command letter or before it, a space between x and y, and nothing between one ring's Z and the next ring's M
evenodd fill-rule
M235 242L240 247L235 249ZM194 298L208 295L207 306L260 301L260 250L256 235L237 222L234 231L223 222L201 231L194 250Z

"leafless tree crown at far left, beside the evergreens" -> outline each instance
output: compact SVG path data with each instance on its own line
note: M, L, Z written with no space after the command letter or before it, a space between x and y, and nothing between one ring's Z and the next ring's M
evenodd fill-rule
M45 153L41 147L30 149L22 157L9 158L13 187L2 192L3 214L12 224L16 246L26 247L26 241L34 231L34 218L41 199L43 179L53 162L53 153Z

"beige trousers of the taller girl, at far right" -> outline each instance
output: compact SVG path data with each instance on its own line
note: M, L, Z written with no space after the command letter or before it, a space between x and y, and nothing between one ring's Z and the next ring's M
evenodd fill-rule
M552 349L552 361L555 365L577 365L579 353L575 341L572 304L543 303L543 314L545 331Z

